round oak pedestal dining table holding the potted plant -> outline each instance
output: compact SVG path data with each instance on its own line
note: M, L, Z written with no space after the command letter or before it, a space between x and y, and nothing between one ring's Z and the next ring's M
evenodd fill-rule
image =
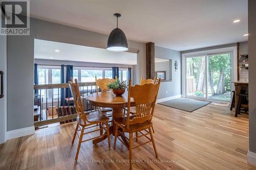
M121 96L116 96L112 91L104 91L104 92L96 92L89 94L87 96L87 100L93 106L97 107L105 107L105 108L112 108L112 126L110 126L110 134L114 135L115 132L115 123L114 120L116 118L123 117L123 108L127 107L127 91ZM131 98L131 106L135 106L135 102L133 98ZM104 135L103 137L99 137L93 140L93 144L97 144L98 142L106 139L107 136ZM126 147L129 147L129 142L122 137L123 142L125 143Z

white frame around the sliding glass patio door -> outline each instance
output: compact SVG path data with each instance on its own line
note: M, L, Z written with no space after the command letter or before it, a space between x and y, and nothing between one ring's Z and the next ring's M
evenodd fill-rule
M194 56L206 56L205 60L205 67L206 69L208 68L208 57L207 55L209 54L215 54L215 53L227 53L231 52L231 82L237 81L237 46L230 46L230 47L224 47L224 48L217 48L217 49L212 49L212 50L205 50L205 51L198 51L198 52L190 52L190 53L183 53L181 55L181 60L182 60L182 97L185 98L187 97L186 94L186 89L185 89L185 72L186 72L186 63L185 63L185 58L187 57L194 57ZM207 85L207 73L205 74L205 84ZM234 85L231 86L231 90L234 89ZM195 97L194 97L195 98ZM206 98L195 98L199 100L207 100L207 92L206 92Z

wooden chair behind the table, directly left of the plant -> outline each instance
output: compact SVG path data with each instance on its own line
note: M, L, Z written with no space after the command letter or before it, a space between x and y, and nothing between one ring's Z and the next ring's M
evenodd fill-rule
M97 79L97 76L95 76L95 82L96 82L96 92L100 91L111 91L111 89L108 88L108 84L115 82L115 79L108 79L108 78L103 78L103 79ZM112 108L105 108L105 107L100 107L99 108L103 113L107 114L107 112L112 112ZM110 113L108 116L111 116L112 113Z

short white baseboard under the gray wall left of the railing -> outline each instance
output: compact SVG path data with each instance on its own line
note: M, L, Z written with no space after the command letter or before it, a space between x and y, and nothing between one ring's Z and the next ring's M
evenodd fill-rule
M35 133L34 126L27 127L27 128L21 128L21 129L15 129L12 131L7 131L7 140L17 138L17 137L32 135L34 133Z

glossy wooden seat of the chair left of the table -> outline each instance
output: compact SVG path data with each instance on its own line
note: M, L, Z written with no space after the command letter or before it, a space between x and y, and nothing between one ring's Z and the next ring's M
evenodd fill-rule
M106 116L104 113L102 113L100 110L87 113L86 116L87 116L87 120L90 121L91 124L93 124L93 122L100 123L100 122L105 122L106 120L109 120L109 117ZM83 119L81 119L80 117L76 117L76 120L80 126L85 125L83 122Z

